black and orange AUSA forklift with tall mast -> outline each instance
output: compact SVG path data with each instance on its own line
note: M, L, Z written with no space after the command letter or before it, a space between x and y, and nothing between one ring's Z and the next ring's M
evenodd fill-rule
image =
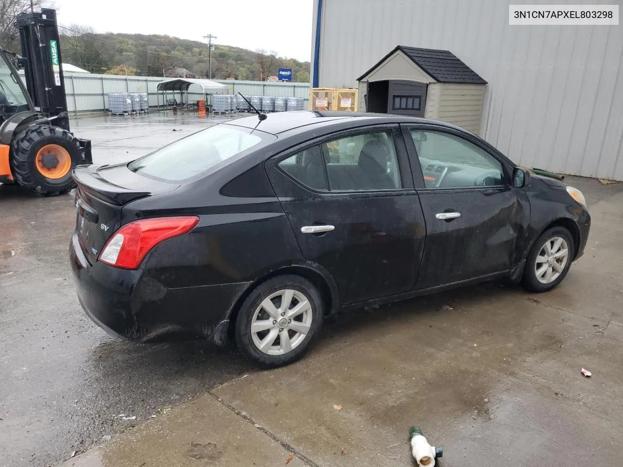
M69 130L56 11L18 14L14 25L22 55L0 50L0 182L58 196L75 187L75 166L93 163L91 141Z

